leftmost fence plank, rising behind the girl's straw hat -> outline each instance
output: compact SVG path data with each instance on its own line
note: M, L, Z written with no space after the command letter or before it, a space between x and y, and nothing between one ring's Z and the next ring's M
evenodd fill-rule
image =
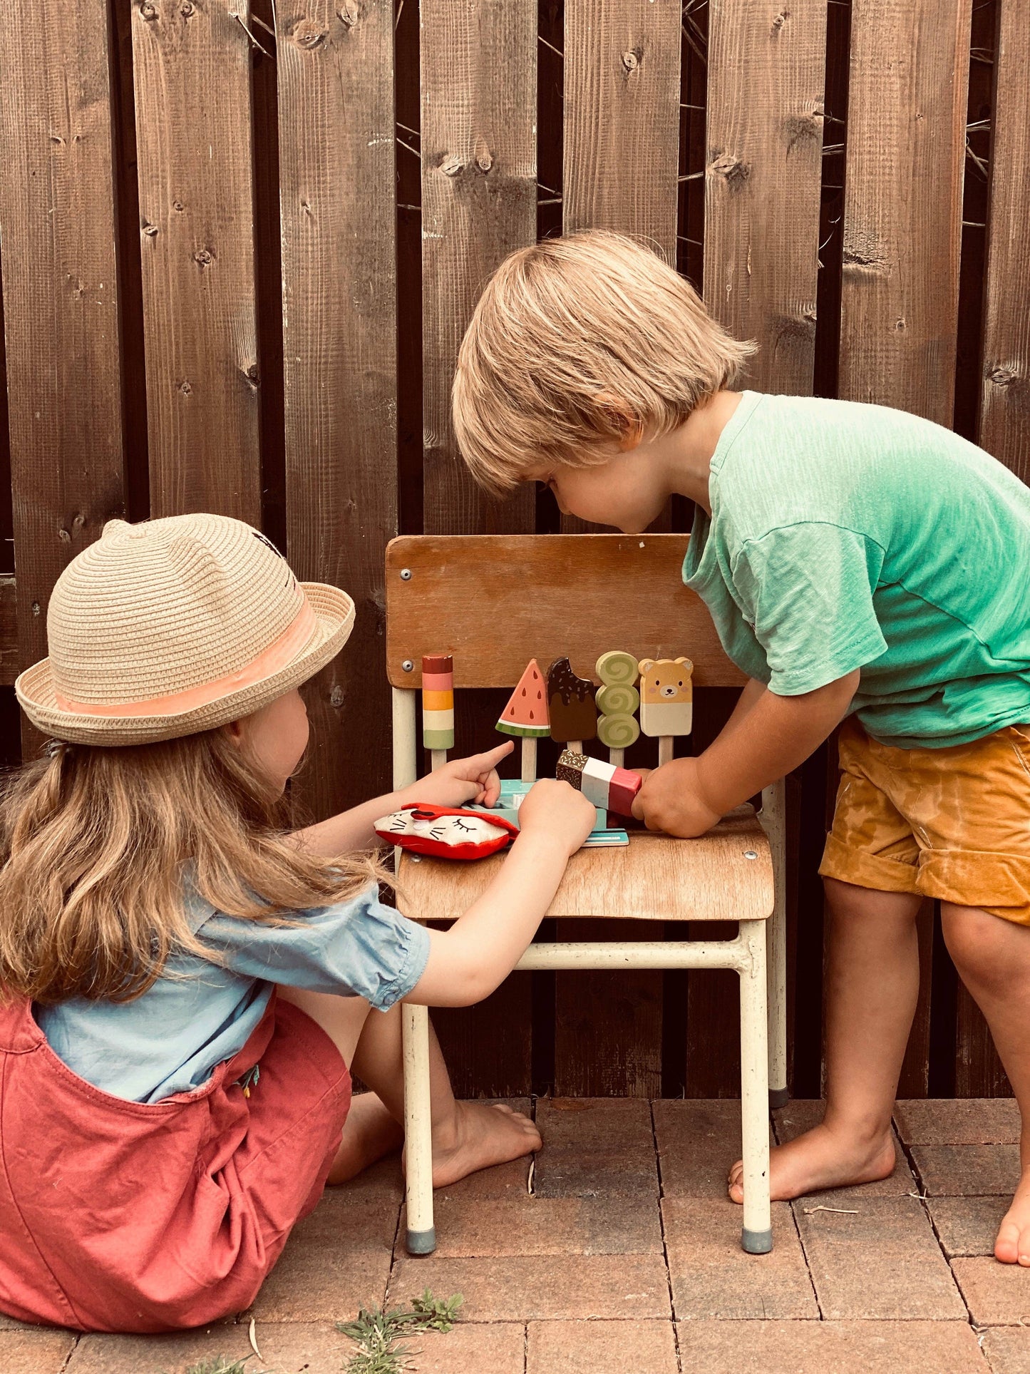
M67 561L124 508L104 0L0 10L0 235L21 665ZM38 739L38 736L36 736ZM26 734L26 745L30 736Z

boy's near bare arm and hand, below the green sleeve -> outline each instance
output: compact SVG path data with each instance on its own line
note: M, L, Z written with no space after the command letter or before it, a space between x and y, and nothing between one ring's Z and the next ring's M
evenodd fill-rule
M705 834L733 807L802 764L845 717L857 686L856 669L799 697L754 692L750 709L733 712L703 754L674 758L648 774L633 813L650 830Z

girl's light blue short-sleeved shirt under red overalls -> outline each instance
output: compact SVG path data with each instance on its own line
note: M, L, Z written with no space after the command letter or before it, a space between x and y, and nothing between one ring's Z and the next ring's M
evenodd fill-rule
M159 1102L199 1088L243 1048L273 984L365 998L386 1011L408 996L428 959L424 927L385 907L374 886L291 919L298 925L227 916L194 896L190 926L222 965L173 955L135 1002L73 998L36 1006L36 1021L81 1079L130 1102Z

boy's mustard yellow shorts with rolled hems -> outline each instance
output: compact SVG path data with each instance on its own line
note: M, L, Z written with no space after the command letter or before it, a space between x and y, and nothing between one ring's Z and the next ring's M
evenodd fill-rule
M840 730L840 786L819 871L1030 925L1030 727L897 749Z

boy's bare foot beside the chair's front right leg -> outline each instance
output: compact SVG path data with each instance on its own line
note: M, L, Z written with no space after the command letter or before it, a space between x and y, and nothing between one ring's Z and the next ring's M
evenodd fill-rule
M871 1140L840 1135L825 1124L806 1131L797 1140L777 1145L769 1151L769 1195L776 1202L799 1198L823 1189L842 1189L853 1183L886 1179L894 1171L894 1140L890 1129ZM744 1201L740 1160L729 1171L729 1197ZM1027 1194L1030 1221L1030 1193ZM1027 1230L1030 1242L1030 1230Z

